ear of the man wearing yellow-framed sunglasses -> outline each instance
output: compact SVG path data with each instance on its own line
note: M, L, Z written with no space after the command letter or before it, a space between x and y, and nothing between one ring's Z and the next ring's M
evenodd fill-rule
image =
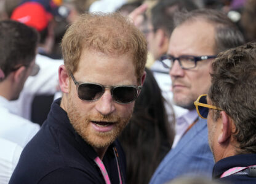
M222 144L231 137L232 120L225 111L220 112L221 119L221 132L218 136L218 143Z

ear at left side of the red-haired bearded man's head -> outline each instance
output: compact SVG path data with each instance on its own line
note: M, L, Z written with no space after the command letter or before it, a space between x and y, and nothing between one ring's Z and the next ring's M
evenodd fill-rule
M69 93L70 91L70 77L65 65L58 67L58 83L60 84L60 90L62 93Z

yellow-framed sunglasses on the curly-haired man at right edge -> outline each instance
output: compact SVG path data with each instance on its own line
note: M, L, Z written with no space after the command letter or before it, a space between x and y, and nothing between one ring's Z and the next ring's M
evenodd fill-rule
M198 112L199 117L206 119L209 113L209 109L222 110L214 105L207 104L207 95L201 94L196 101L194 101L194 105L196 106L196 111Z

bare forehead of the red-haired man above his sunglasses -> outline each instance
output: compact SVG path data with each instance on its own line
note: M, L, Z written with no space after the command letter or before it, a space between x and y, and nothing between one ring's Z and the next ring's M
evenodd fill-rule
M102 85L137 84L134 60L130 53L106 55L95 50L83 50L76 73L79 81L84 82Z

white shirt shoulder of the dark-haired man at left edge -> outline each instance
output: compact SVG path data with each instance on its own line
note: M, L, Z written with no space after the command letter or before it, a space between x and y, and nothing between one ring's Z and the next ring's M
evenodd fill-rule
M20 147L30 141L40 126L12 113L10 102L0 96L0 137L15 142ZM1 148L2 151L2 148Z

